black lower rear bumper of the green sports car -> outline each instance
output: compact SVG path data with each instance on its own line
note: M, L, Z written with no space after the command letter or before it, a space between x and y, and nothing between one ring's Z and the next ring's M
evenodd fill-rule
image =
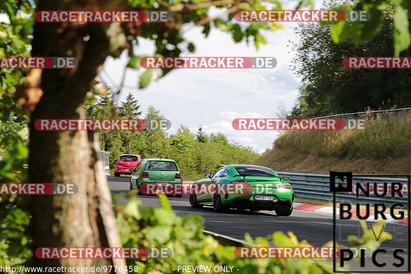
M288 199L279 199L277 201L251 201L248 198L237 198L224 205L230 208L254 210L283 210L292 208L292 202Z

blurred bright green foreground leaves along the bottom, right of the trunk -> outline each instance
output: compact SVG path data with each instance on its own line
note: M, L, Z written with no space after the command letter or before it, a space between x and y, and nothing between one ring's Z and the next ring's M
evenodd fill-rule
M172 257L167 259L128 260L130 266L137 265L138 273L158 270L163 273L178 273L178 265L234 266L242 273L332 273L332 263L326 259L245 259L237 258L233 246L222 246L211 236L202 232L202 217L188 215L177 217L164 195L159 195L161 208L142 207L140 200L130 192L127 205L117 212L117 224L125 247L170 248ZM382 223L375 224L381 229ZM377 227L378 226L378 227ZM384 240L390 239L383 232L382 241L370 237L365 227L361 238L351 237L352 246L378 248ZM252 239L247 233L245 241L257 247L307 247L307 241L298 241L292 233L277 231L267 237ZM324 246L331 246L331 242ZM172 270L174 269L174 270ZM137 272L136 272L137 273ZM219 273L219 272L216 272Z

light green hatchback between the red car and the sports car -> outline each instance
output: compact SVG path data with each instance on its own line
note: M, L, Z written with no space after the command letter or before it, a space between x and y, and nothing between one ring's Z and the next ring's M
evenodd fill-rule
M143 159L137 165L130 176L130 189L138 188L139 194L141 186L147 185L168 185L182 188L183 180L177 163L170 159ZM147 188L145 188L147 189ZM176 193L176 197L181 197L181 193Z

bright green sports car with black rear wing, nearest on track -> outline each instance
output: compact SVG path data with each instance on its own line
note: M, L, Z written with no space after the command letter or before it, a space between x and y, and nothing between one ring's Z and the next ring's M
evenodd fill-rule
M228 165L214 175L193 183L190 204L193 208L213 206L215 212L228 208L252 211L275 210L277 216L290 216L294 191L287 182L268 167L255 165ZM210 187L213 186L213 187ZM210 191L212 189L212 191Z

